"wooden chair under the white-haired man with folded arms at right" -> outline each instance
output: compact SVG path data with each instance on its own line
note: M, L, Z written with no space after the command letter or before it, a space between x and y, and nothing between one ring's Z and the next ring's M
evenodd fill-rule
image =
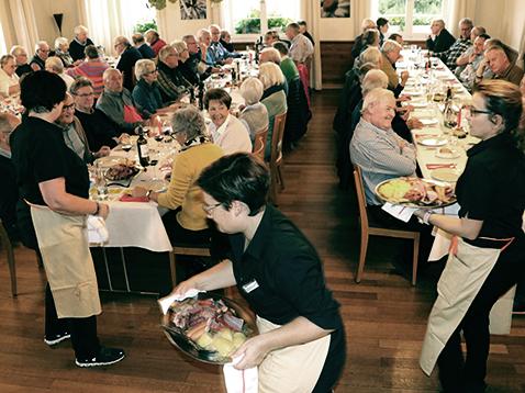
M365 187L362 184L361 169L358 166L354 166L354 179L356 182L357 202L359 205L359 224L361 227L361 244L359 248L359 265L357 267L356 282L361 281L362 271L365 270L365 260L367 257L368 237L369 236L383 236L383 237L396 237L404 239L412 239L413 244L413 260L412 260L412 285L415 285L417 277L417 257L420 252L420 233L413 231L391 229L379 226L370 226L367 215L367 200L365 198Z

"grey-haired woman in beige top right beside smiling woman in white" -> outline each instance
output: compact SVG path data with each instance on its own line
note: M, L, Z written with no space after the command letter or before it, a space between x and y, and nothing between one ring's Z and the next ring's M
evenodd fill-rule
M252 143L255 134L268 126L268 110L260 103L264 86L257 78L247 78L241 85L241 96L243 96L246 106L243 109L238 119L246 124L249 131Z

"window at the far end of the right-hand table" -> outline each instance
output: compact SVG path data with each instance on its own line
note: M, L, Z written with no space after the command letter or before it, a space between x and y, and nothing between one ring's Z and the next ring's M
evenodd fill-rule
M389 20L389 35L401 33L404 37L422 38L431 32L435 18L445 19L447 0L376 0L372 15Z

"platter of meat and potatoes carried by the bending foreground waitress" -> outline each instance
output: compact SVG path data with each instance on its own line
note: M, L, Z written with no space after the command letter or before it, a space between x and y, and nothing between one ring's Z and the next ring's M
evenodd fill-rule
M168 340L191 358L213 364L231 362L243 343L258 334L253 314L213 293L171 303L163 315Z

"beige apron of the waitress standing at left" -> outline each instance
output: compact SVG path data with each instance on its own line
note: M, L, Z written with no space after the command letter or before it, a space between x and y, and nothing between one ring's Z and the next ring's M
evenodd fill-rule
M102 312L89 251L86 216L65 215L31 205L38 248L59 318L85 318Z

